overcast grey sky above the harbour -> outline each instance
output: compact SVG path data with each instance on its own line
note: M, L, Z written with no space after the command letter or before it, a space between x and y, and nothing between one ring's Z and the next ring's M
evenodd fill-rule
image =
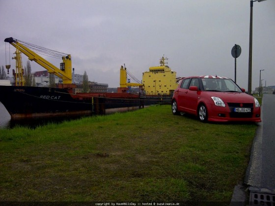
M163 55L177 77L234 80L231 49L238 44L237 83L247 89L249 15L250 0L0 0L0 66L4 39L13 37L71 54L76 74L86 71L109 87L119 87L120 65L141 80ZM46 59L58 68L62 61ZM45 70L30 63L33 72ZM275 0L254 2L252 90L261 69L263 85L275 85Z

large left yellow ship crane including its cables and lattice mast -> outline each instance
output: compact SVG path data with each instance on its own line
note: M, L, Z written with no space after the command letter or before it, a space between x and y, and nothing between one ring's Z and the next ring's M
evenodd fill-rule
M33 45L27 42L20 41L18 39L14 39L12 37L6 38L4 42L10 43L12 46L16 48L16 68L17 72L19 74L23 74L23 68L20 68L20 65L18 63L21 63L22 67L22 61L21 61L21 52L24 53L30 61L35 61L42 67L48 70L49 73L54 74L55 76L61 78L63 80L63 88L73 88L75 87L72 84L72 60L71 60L71 55L70 54L65 54L61 52L56 52L50 49L46 49L37 45ZM60 63L60 69L55 67L52 63L38 55L36 52L33 52L30 50L28 47L32 48L33 50L36 50L38 52L46 52L48 55L55 55L56 57L61 57L62 62ZM46 55L47 55L46 54ZM16 72L16 73L17 73ZM20 75L21 77L21 75ZM23 78L23 76L22 76ZM20 80L21 81L21 80ZM19 85L24 85L23 83L20 83Z

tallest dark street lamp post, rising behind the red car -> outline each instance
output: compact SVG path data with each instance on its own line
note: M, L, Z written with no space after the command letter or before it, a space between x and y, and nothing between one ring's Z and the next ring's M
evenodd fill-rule
M249 26L249 59L248 59L248 94L252 94L252 19L253 19L253 2L264 0L250 0L250 26Z

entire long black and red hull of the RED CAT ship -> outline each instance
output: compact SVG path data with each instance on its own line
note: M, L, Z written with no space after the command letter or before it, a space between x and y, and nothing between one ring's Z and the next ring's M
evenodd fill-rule
M0 102L11 119L22 119L105 114L108 109L170 103L170 98L129 93L71 94L62 88L0 86Z

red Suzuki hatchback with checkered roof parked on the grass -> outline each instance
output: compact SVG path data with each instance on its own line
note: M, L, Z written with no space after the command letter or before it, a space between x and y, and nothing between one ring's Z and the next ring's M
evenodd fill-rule
M226 77L182 78L174 91L172 112L194 114L201 122L261 122L257 99Z

